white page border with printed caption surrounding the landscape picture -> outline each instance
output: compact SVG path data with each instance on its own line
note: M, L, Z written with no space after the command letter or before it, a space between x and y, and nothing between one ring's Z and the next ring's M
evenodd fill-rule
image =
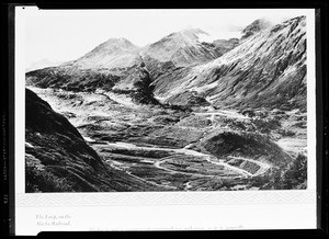
M42 11L30 8L34 7L25 7L25 9L16 7L15 9L14 130L16 235L36 235L39 231L47 230L225 230L316 228L316 77L314 9L291 9L291 11L298 11L300 14L306 15L307 21L307 190L25 193L25 18L29 14L36 14L35 11ZM54 13L54 11L55 10L49 11L49 13ZM273 11L281 10L273 9ZM97 10L84 10L84 12L88 14L98 14ZM106 11L102 10L102 12L104 13Z

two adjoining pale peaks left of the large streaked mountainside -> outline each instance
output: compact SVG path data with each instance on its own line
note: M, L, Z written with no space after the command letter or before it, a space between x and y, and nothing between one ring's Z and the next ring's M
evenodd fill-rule
M110 38L77 60L27 72L26 84L73 91L135 90L140 67L155 79L180 67L207 62L236 46L202 43L198 41L202 34L206 33L186 29L144 48L126 38Z

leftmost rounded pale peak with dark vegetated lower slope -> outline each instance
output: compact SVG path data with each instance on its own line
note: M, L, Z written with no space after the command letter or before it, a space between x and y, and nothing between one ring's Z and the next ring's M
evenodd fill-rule
M71 91L109 91L143 62L138 49L125 38L110 38L77 60L27 72L26 84Z

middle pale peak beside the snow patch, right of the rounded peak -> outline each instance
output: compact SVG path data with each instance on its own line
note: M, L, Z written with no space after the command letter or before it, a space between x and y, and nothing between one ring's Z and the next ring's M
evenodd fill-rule
M157 78L175 68L207 62L235 47L202 42L203 35L207 33L200 29L185 29L145 47L140 55L151 76Z

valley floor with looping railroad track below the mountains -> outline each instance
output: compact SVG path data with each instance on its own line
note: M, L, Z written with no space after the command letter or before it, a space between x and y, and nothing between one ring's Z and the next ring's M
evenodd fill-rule
M260 181L287 164L225 143L228 149L219 153L208 146L218 133L259 134L291 160L306 155L306 114L298 111L260 111L254 117L207 107L184 112L137 105L113 92L29 88L65 115L113 169L169 191L260 190Z

